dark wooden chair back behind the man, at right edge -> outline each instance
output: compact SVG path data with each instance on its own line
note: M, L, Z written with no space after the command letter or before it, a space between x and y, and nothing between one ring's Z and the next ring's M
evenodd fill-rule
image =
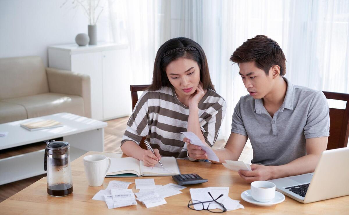
M348 146L349 136L349 94L323 91L326 98L346 101L346 109L329 109L329 137L327 150Z

